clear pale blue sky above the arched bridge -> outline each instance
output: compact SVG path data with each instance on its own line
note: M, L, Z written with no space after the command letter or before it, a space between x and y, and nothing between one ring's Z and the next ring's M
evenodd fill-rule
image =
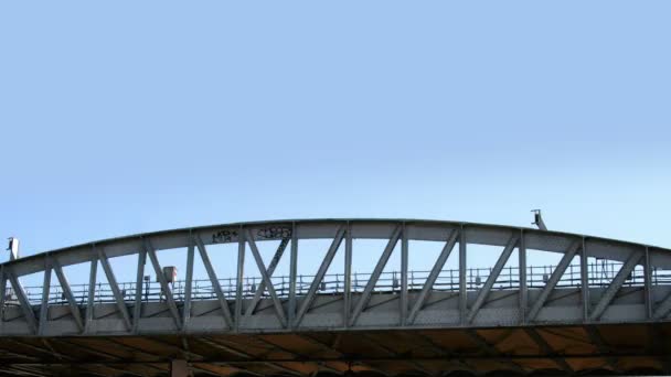
M3 1L0 236L30 255L275 218L530 226L543 208L552 229L671 247L669 14Z

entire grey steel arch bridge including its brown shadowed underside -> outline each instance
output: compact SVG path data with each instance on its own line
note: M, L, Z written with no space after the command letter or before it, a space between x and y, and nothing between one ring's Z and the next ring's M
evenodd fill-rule
M312 239L330 246L317 270L299 271L301 241ZM386 244L364 274L352 271L359 239ZM267 241L278 245L269 261L259 252ZM408 269L413 241L440 243L430 270ZM216 276L215 244L233 246L225 258L236 276ZM497 247L487 249L491 265L468 267L482 245ZM159 255L175 248L185 280L171 282ZM526 259L539 250L558 263L534 271ZM401 268L385 271L394 252ZM445 269L450 255L458 268ZM137 256L135 282L117 281L110 259L124 256ZM344 271L328 273L341 256ZM205 277L194 277L199 259ZM286 259L289 273L274 274ZM89 266L88 284L68 283L76 265ZM145 280L146 267L157 282ZM671 373L669 270L671 250L660 247L454 222L273 220L134 235L0 265L0 375ZM21 283L34 273L43 273L38 291Z

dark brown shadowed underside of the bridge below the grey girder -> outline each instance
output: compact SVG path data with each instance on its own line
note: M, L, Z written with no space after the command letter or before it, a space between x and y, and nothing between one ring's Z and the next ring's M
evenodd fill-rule
M175 360L193 376L662 375L670 335L671 323L8 337L0 375L170 376Z

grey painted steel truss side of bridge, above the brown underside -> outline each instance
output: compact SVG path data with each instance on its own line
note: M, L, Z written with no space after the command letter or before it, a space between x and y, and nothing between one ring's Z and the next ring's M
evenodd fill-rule
M329 239L331 246L317 271L298 271L300 241ZM381 239L387 243L362 289L354 289L351 276L353 239ZM258 252L257 244L280 240L276 258L268 265ZM409 240L440 241L445 247L422 288L415 288L407 270ZM215 274L207 247L214 244L236 244L238 248L237 279L231 290L223 290ZM322 279L339 247L344 244L344 289L326 293ZM376 288L394 247L400 245L402 270L398 283L390 290ZM466 261L469 245L500 247L492 256L492 271L482 284L473 287L467 280ZM157 255L161 250L188 250L185 287L177 292L162 277ZM285 252L285 248L288 252ZM454 250L452 250L454 249ZM497 278L513 250L525 266L526 250L543 250L565 255L547 277L544 287L529 287L526 269L516 274L514 287L494 288ZM243 259L249 252L257 269L245 271ZM447 257L458 254L458 281L454 289L438 291L433 284ZM542 324L650 323L668 321L671 294L663 283L656 282L654 270L671 269L671 250L648 245L605 239L557 231L544 231L497 225L398 219L315 219L227 224L199 228L159 231L102 240L9 261L0 266L0 291L11 288L11 297L2 295L3 336L99 336L137 334L212 334L212 333L284 333L301 331L397 330L534 326ZM160 301L143 300L142 289L128 297L116 280L108 259L137 255L159 277ZM290 258L289 288L277 289L273 273L277 260ZM624 263L607 283L588 287L587 268L581 268L578 282L558 287L573 257L582 266L587 258L601 258ZM464 258L465 257L465 258ZM193 258L205 266L213 295L199 299L192 282ZM63 268L92 262L90 280L104 274L109 281L111 300L95 302L95 292L85 292L86 302L77 301ZM631 283L636 267L643 268L638 283ZM25 274L44 271L44 283L57 280L63 289L63 302L49 301L49 292L35 304L20 284ZM52 273L53 271L53 273ZM254 293L244 286L248 273L260 274ZM307 290L297 290L300 274L311 274ZM640 274L640 273L639 273ZM138 269L136 287L142 287L143 273ZM55 279L54 279L55 277ZM396 278L394 278L396 279ZM395 281L395 280L394 280ZM259 293L260 292L260 293ZM531 334L530 336L533 336Z

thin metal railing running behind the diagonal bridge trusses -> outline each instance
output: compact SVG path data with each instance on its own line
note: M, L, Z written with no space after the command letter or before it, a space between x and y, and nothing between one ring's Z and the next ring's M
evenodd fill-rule
M588 265L588 284L589 287L607 287L615 278L621 262L597 262ZM545 287L552 272L556 266L531 266L526 268L526 281L530 289L540 289ZM478 290L487 281L492 268L469 268L467 269L466 284L468 290ZM411 291L422 290L430 271L408 271L408 289ZM671 284L671 271L653 269L651 273L651 282L653 286ZM362 292L371 278L371 273L352 273L351 289L352 292ZM271 277L273 286L278 297L288 298L290 279L288 276ZM296 294L306 295L315 276L299 274L296 280ZM222 292L228 300L234 300L236 295L237 279L227 278L219 280ZM497 278L493 290L515 290L519 288L520 274L518 267L507 267ZM642 268L635 269L624 283L624 287L642 287L645 286L645 272ZM581 287L581 266L569 265L556 288L579 288ZM260 277L248 277L243 280L243 298L251 299L257 290L263 288L263 279ZM318 286L319 294L339 294L344 291L345 277L343 273L326 274L323 280ZM94 294L95 303L115 302L113 290L108 283L96 283ZM85 304L88 299L88 284L72 284L72 293L79 304ZM119 283L119 290L125 301L134 302L136 300L136 283L124 282ZM160 283L155 281L143 281L141 287L142 302L157 302L164 300L164 294ZM377 280L373 292L390 293L401 290L401 272L391 271L383 272ZM42 301L42 287L24 288L28 300L33 305L39 305ZM185 293L185 281L178 280L171 283L171 291L175 301L183 301ZM443 270L438 274L434 283L433 291L458 292L459 291L459 270L448 269ZM262 297L268 297L264 289ZM193 280L192 282L192 300L215 300L216 293L210 280ZM11 289L6 292L6 303L8 305L17 304L15 294ZM52 286L49 293L50 304L66 304L67 299L60 286Z

